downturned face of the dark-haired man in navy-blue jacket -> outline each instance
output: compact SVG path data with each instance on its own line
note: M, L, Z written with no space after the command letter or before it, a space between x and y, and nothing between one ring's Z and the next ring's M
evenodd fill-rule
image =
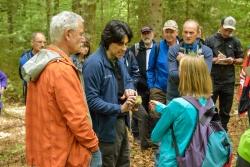
M124 56L128 45L128 36L125 35L120 43L111 43L108 52L112 59L120 59Z

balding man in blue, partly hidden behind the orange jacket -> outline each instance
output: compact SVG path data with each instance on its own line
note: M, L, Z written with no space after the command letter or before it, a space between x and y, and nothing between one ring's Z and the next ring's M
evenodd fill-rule
M31 38L31 49L24 52L19 59L19 76L23 80L23 96L24 102L26 102L27 95L27 83L24 81L21 75L22 66L31 59L35 54L37 54L41 49L45 48L46 38L42 32L34 32Z

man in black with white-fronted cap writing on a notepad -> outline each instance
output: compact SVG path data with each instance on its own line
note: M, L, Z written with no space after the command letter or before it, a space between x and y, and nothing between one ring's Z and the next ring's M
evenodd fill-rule
M230 110L233 103L235 84L235 64L243 61L243 51L240 41L233 36L236 20L232 16L221 20L218 33L205 41L205 45L213 51L213 101L219 97L219 113L223 128L227 131Z

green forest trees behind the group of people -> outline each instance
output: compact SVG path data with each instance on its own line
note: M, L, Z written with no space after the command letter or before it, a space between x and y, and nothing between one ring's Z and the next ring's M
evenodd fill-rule
M186 19L197 20L205 38L215 33L221 18L228 15L236 18L235 35L246 48L250 43L249 9L249 0L0 0L0 70L9 77L7 100L16 102L22 97L18 60L30 48L32 32L42 31L48 38L50 19L60 11L74 11L84 18L94 51L105 24L111 19L130 25L134 33L130 44L133 44L140 39L143 25L151 25L159 40L168 19L177 21L180 32Z

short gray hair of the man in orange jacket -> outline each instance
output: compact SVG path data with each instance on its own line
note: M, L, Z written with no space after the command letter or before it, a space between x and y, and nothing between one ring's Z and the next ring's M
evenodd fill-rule
M50 23L51 42L53 43L59 41L62 38L64 30L75 30L79 21L84 22L80 15L69 11L63 11L53 16Z

